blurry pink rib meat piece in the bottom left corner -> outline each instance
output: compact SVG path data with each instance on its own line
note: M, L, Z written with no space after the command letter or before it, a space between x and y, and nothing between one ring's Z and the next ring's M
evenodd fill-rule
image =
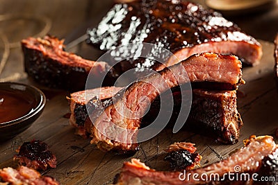
M38 171L26 166L0 169L0 184L33 184L33 185L58 185L59 183L52 177L41 176Z

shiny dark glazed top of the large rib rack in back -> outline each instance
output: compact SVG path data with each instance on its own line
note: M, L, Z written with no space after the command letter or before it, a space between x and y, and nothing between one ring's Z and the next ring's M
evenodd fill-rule
M97 46L102 51L121 46L121 49L111 52L113 58L119 58L115 62L129 58L131 68L138 69L156 69L157 63L161 61L156 62L149 58L159 56L164 61L171 55L168 51L175 53L207 42L245 41L259 44L254 38L245 35L236 24L224 19L220 13L181 0L117 3L96 28L88 29L88 35L88 44ZM152 51L149 52L149 47L145 49L146 46L141 49L141 46L136 48L137 45L126 45L142 42L155 44ZM161 48L167 50L161 51ZM130 57L136 55L136 52L145 53L149 58L133 60ZM123 66L129 63L125 62Z

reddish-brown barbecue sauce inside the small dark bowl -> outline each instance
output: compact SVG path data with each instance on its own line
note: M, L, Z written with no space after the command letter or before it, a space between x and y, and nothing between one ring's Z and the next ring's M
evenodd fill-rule
M24 91L0 90L0 123L13 121L35 109L35 98Z

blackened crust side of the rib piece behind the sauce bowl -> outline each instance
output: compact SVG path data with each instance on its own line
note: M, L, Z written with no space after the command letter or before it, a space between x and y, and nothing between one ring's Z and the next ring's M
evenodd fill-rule
M36 82L49 87L73 88L73 90L85 87L88 76L88 71L85 69L60 64L56 60L45 57L40 51L27 47L23 47L23 53L25 71Z

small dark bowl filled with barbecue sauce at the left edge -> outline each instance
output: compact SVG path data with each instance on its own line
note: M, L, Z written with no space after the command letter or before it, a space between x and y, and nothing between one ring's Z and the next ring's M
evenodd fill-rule
M46 98L40 89L0 82L0 141L23 132L42 114Z

